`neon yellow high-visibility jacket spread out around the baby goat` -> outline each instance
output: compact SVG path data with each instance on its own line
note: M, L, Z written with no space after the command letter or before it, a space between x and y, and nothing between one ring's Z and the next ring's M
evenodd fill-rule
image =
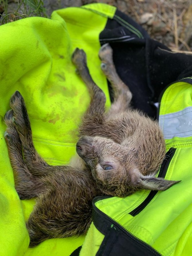
M70 60L74 48L86 51L91 76L105 92L109 106L107 81L98 58L100 42L104 42L102 38L99 41L99 34L114 18L112 22L122 26L122 34L105 40L127 42L133 39L125 34L128 31L136 39L143 38L136 27L115 11L113 6L98 3L57 10L52 19L31 17L0 26L2 256L68 256L82 244L81 256L191 255L191 78L169 86L160 106L159 120L168 153L159 175L182 182L158 193L139 191L124 199L96 198L93 223L85 242L83 236L48 239L28 248L25 222L35 200L19 200L14 188L3 138L3 116L10 108L9 99L16 90L23 95L38 153L50 165L67 164L75 154L77 125L89 105L87 88L75 75ZM110 27L107 31L110 32Z

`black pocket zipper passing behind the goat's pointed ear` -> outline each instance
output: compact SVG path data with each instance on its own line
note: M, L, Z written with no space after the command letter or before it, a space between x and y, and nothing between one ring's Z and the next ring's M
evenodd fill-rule
M167 169L171 162L171 159L173 158L173 156L175 154L175 151L176 151L176 148L170 148L169 151L166 153L165 158L160 167L158 178L165 177L165 175L167 173ZM154 198L154 196L157 194L157 192L158 191L150 191L147 198L137 208L132 210L129 214L132 216L136 216L137 214L139 214L150 203L150 201Z

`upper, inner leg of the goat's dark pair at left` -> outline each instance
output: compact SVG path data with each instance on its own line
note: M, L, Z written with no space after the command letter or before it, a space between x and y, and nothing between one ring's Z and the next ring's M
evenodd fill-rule
M35 150L26 105L18 91L11 97L10 106L13 110L13 125L19 134L23 147L24 161L28 170L36 176L52 172L52 166L48 165Z

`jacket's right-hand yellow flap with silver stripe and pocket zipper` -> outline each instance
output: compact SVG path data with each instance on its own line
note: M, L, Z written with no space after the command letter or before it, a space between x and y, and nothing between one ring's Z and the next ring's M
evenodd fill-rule
M95 198L81 256L192 255L192 77L164 91L159 124L167 153L158 176L181 182L166 191Z

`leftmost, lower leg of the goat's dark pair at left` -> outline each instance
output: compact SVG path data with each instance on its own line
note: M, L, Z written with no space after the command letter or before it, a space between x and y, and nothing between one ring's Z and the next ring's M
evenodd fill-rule
M37 179L30 173L23 161L21 140L13 125L13 110L7 111L4 120L7 125L5 140L14 171L15 189L21 199L36 197L45 191L45 185L41 179Z

